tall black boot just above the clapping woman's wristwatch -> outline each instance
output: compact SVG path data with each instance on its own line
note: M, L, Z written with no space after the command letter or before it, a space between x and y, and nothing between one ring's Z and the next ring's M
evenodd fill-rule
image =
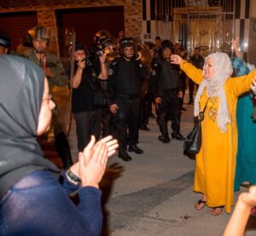
M73 160L70 153L69 144L67 141L67 136L64 132L61 132L58 135L56 135L55 149L61 158L63 169L67 170L70 166L73 165Z

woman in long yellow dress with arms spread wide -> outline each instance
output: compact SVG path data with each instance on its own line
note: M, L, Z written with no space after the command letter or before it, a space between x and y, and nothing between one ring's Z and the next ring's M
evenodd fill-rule
M194 115L198 116L207 104L201 123L201 150L195 162L194 191L203 196L195 209L201 210L207 204L212 208L212 216L218 216L224 208L230 213L236 170L236 102L239 95L251 89L256 71L230 78L233 70L229 56L224 53L208 55L203 70L178 55L172 55L171 59L200 84L195 95Z

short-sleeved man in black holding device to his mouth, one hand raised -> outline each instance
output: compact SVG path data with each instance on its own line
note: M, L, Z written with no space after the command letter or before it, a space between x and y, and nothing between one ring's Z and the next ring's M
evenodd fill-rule
M84 45L80 43L75 45L72 107L77 126L79 152L83 152L84 147L89 143L90 135L95 135L98 139L101 134L101 106L95 104L94 96L96 90L101 89L98 78L108 78L106 58L107 55L100 57L101 72L96 76L92 62L86 56Z

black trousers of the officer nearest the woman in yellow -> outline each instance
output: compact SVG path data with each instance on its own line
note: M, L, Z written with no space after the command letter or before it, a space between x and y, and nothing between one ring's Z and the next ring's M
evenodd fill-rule
M178 134L180 131L181 101L178 98L177 89L166 89L161 97L162 101L158 104L158 121L161 135L168 137L168 120L172 121L172 134Z

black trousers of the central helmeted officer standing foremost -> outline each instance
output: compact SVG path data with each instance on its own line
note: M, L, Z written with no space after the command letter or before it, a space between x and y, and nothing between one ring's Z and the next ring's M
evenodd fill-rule
M140 99L118 96L117 109L113 115L113 135L119 141L119 151L125 151L127 145L137 144Z

